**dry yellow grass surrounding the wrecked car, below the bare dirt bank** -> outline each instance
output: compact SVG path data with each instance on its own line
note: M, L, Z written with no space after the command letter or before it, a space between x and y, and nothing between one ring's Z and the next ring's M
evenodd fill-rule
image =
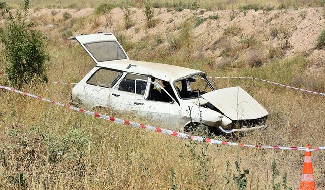
M191 42L193 36L184 36L182 40ZM67 43L57 36L49 37L48 48L52 55L49 79L80 80L93 66L89 64L92 61L88 55L74 43ZM133 59L208 70L211 75L253 75L292 84L308 64L308 57L293 55L270 59L261 67L251 68L244 64L218 68L209 64L210 57L191 54L188 47L192 46L186 43L164 52L161 51L164 48L155 49L155 40L141 45L142 42L129 42L128 37L123 44L129 46L128 54ZM270 113L268 129L226 140L262 145L324 145L323 97L254 81L215 80L215 83L218 88L241 86ZM71 87L41 84L23 90L69 103ZM236 189L232 174L237 174L234 163L240 159L241 169L250 170L249 189L272 188L272 161L276 161L280 170L276 182L281 182L286 173L288 186L299 186L303 153L298 151L212 145L205 149L204 143L190 151L195 144L188 140L113 124L12 92L1 92L0 96L2 188L13 188L19 182L11 177L23 173L28 176L20 181L26 181L28 188L33 189L168 189L172 187L170 170L173 168L176 174L174 184L179 189L208 188L210 185L212 189ZM133 113L98 111L152 124L145 118L134 118ZM321 189L325 186L322 173L325 160L321 151L312 155L315 180ZM230 162L228 172L227 161Z

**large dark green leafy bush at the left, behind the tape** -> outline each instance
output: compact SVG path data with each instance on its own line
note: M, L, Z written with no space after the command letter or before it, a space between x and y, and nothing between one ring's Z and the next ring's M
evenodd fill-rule
M50 59L45 36L40 31L30 29L26 22L28 0L24 5L23 15L21 10L16 17L8 12L8 25L0 30L2 53L7 62L7 79L13 86L47 81L45 63Z

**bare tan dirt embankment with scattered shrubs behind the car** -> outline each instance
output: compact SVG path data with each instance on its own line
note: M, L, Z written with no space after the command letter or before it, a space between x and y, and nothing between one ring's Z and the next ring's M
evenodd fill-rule
M155 9L153 19L157 24L153 28L146 27L142 9L130 10L132 27L129 29L124 27L124 10L120 8L106 15L95 15L92 8L30 10L29 18L37 21L38 28L44 32L61 39L99 31L124 33L132 42L160 36L163 40L157 48L168 47L169 35L177 35L182 23L192 21L194 53L212 57L216 66L236 60L265 62L298 53L309 56L312 72L325 67L324 51L315 49L316 39L325 28L323 8L272 11L184 9L180 12L163 8ZM64 18L66 12L71 17ZM69 33L63 34L67 30Z

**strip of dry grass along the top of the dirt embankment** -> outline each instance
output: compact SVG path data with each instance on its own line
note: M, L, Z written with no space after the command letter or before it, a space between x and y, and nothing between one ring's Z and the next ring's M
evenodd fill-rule
M13 7L19 7L21 5L20 0L10 0L10 3ZM133 6L133 7L142 7L145 1L131 1L131 0L112 0L109 3L116 6ZM32 8L88 8L88 7L97 7L102 3L107 3L107 1L32 1L30 5ZM253 1L253 0L232 0L232 1L207 1L207 0L150 0L154 7L171 7L177 10L187 9L198 9L204 8L208 10L223 10L223 9L239 9L239 10L266 10L270 11L272 9L283 9L283 8L299 8L299 7L322 7L324 2L321 0L276 0L276 1Z

